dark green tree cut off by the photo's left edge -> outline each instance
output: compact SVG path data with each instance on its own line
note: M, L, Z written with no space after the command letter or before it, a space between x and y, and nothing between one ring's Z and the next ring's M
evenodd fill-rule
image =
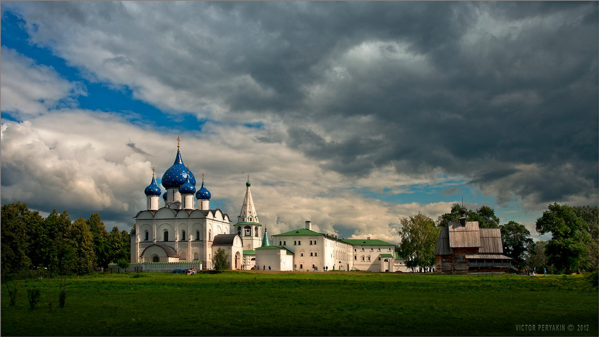
M2 205L0 217L2 273L28 268L31 265L31 259L27 256L29 208L20 202Z

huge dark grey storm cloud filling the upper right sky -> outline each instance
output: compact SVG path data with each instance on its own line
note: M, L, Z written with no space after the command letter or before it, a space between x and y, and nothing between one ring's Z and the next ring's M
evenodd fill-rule
M597 2L38 6L79 25L38 39L104 31L101 47L126 60L118 66L217 102L231 119L274 117L287 135L262 139L323 168L441 169L529 207L597 195Z

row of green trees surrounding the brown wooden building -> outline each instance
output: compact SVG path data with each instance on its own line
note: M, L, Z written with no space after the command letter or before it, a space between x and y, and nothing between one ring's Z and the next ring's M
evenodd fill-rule
M437 221L421 212L400 218L398 233L400 245L396 247L408 268L435 265L434 251L441 227L450 221L459 221L459 204L450 212L440 215ZM547 241L534 242L530 231L516 221L500 224L495 211L483 206L467 210L467 221L479 221L480 228L499 228L504 255L513 264L547 269L553 274L571 274L580 271L597 271L599 268L599 215L597 206L569 206L553 203L537 218L536 230L540 235L550 233Z

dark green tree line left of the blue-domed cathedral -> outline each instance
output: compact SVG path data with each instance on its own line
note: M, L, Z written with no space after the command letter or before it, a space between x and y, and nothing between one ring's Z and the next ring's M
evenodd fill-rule
M66 211L46 218L27 204L2 205L0 254L2 274L48 269L53 274L89 274L109 263L128 262L129 232L114 226L107 232L98 213L71 221Z

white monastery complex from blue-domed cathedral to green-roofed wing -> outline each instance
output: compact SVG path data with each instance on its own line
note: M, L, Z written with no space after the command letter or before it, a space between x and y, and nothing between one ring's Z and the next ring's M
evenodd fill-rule
M263 233L259 223L249 176L241 212L237 223L232 224L223 211L210 209L211 194L204 174L202 186L196 190L195 177L183 164L179 144L161 184L164 194L152 175L144 190L146 210L134 217L131 263L196 262L211 269L212 258L220 248L228 254L231 269L407 271L395 254L394 244L370 238L339 239L314 232L310 221L305 221L304 228L271 236L270 244L266 227Z

